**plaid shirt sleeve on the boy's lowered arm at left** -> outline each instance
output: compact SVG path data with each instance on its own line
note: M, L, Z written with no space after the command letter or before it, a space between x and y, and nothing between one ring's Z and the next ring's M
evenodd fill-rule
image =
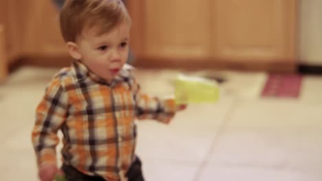
M56 165L56 145L59 143L57 131L66 119L66 94L59 78L55 78L47 86L45 95L36 108L32 143L39 167Z

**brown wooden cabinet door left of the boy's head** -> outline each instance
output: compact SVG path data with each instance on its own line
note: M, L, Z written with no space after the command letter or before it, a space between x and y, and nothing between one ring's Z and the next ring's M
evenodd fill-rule
M58 9L52 1L28 1L25 51L30 56L67 55L60 34Z

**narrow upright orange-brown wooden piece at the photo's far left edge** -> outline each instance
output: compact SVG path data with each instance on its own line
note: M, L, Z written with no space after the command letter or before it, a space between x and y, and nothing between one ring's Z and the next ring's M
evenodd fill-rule
M8 75L8 54L6 51L6 36L3 25L0 25L0 82Z

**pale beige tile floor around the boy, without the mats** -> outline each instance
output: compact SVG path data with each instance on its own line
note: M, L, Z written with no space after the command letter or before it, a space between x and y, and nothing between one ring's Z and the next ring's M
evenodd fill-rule
M34 108L57 69L21 67L0 85L0 180L37 180ZM178 71L138 70L143 90L172 93ZM322 180L322 77L305 77L299 99L261 99L265 73L226 78L217 104L189 105L170 125L138 122L148 181ZM153 86L151 86L153 85Z

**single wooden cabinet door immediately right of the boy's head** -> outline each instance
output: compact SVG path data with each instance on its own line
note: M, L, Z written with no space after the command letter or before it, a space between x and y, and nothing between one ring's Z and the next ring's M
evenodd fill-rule
M208 57L209 1L129 1L136 32L133 40L140 42L134 43L135 53L162 58Z

